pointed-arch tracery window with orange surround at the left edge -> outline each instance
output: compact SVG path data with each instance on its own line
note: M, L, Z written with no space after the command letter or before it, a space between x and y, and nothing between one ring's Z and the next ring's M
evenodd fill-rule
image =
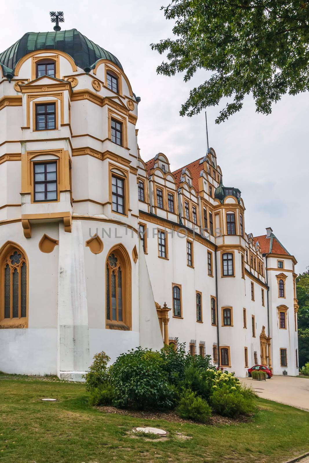
M27 261L21 250L12 244L1 252L2 267L2 317L14 321L27 317ZM6 250L6 253L5 253ZM18 321L19 324L19 321Z

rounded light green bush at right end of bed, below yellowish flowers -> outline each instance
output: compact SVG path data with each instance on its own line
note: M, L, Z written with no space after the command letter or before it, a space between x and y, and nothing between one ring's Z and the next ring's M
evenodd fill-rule
M255 394L247 388L229 388L223 385L215 388L210 404L215 413L230 418L249 415L256 411L253 398Z

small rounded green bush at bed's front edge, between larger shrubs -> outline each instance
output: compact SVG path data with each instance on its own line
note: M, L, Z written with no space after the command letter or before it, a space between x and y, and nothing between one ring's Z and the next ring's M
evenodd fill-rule
M184 391L176 412L181 418L193 419L200 423L207 423L211 417L211 408L206 400L190 389Z

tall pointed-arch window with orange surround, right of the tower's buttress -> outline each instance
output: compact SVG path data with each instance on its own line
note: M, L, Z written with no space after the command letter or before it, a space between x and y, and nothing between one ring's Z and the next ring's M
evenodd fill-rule
M107 257L106 319L110 329L131 329L131 264L122 245Z

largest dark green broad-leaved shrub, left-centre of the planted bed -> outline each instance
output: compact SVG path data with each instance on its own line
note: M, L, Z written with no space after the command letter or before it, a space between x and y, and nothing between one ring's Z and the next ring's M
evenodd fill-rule
M159 352L142 349L121 354L109 371L116 407L172 408L174 393L166 381Z

